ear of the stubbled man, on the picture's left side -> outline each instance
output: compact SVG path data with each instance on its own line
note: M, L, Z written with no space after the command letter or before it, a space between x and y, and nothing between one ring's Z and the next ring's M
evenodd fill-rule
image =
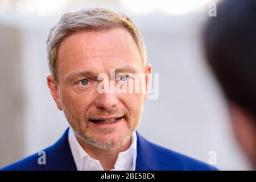
M58 107L59 110L62 110L61 102L60 102L60 93L56 81L52 77L52 75L47 76L47 85L51 90L52 97Z

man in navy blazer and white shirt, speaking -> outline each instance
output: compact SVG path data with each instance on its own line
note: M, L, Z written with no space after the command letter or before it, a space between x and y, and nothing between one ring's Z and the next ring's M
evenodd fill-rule
M106 9L65 14L49 32L47 51L48 87L71 127L43 150L46 164L35 154L4 170L216 169L136 132L151 65L130 18Z

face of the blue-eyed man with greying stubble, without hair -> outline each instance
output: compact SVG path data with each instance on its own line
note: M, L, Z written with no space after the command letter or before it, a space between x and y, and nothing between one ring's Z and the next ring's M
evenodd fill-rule
M122 146L137 129L145 93L99 93L97 80L106 73L104 86L110 86L110 69L115 69L114 83L127 82L129 73L150 73L144 66L137 45L124 28L108 31L83 31L68 35L57 55L56 85L48 76L48 86L57 107L75 133L87 143L100 148ZM118 72L117 72L118 71ZM126 79L127 78L127 79ZM109 82L106 80L109 79ZM139 88L148 85L148 77L139 78ZM112 80L113 81L113 80ZM141 89L140 89L141 90Z

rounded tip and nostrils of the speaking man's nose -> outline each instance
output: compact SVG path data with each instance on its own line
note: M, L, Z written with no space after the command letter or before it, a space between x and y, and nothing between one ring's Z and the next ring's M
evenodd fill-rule
M101 93L96 98L95 105L98 109L110 110L118 104L118 98L114 93Z

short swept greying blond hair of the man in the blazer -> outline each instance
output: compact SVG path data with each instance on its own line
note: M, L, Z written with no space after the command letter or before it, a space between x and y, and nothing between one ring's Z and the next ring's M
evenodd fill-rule
M142 64L146 64L146 48L141 34L133 20L124 14L108 9L83 9L75 13L64 14L59 22L51 28L47 39L47 55L50 72L58 83L57 78L57 52L65 36L77 31L110 30L115 27L126 28L138 46Z

